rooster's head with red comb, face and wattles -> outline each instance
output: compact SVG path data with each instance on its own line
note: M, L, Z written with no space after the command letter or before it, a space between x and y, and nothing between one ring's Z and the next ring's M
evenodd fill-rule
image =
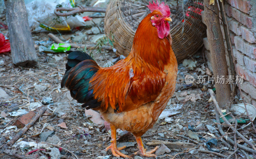
M170 25L167 21L172 21L170 18L170 8L164 2L161 4L158 3L156 0L156 3L152 2L152 4L149 2L149 5L147 5L149 10L151 11L151 22L152 25L157 28L157 34L158 37L163 39L164 37L167 37L170 33Z

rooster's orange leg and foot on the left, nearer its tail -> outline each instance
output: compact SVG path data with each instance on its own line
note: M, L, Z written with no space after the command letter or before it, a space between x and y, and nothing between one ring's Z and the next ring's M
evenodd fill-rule
M108 151L109 149L112 151L112 154L116 157L129 157L128 155L124 155L120 152L120 150L124 149L126 146L123 147L116 147L116 126L110 124L111 128L111 144L105 149L105 151Z

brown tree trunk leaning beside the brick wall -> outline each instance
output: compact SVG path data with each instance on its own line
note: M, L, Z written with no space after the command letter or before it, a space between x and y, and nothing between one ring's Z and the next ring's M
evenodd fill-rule
M230 103L231 88L226 84L228 65L225 56L225 46L220 29L219 9L217 2L209 5L210 0L204 0L205 23L207 26L207 38L210 44L212 69L216 88L216 99L221 107ZM217 77L224 76L224 83L217 83Z

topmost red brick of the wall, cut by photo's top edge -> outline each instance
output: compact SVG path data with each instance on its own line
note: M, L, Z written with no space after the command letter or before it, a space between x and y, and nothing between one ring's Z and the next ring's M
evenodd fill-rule
M242 12L245 12L249 14L249 11L251 10L252 6L250 4L250 1L246 0L227 0L227 2L236 9L239 9Z

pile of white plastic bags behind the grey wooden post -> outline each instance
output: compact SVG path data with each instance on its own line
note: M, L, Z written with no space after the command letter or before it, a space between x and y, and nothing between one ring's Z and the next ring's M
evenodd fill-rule
M72 28L85 26L84 19L79 16L57 17L56 7L75 7L75 0L33 0L26 4L28 24L31 31L67 32Z

